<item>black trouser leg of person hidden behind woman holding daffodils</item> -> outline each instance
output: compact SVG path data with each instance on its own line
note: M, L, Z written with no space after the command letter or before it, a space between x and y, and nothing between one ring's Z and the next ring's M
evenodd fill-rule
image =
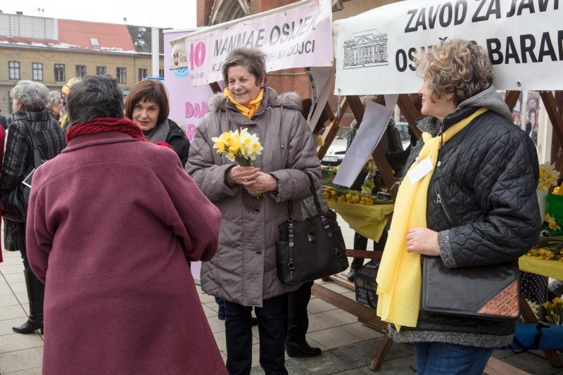
M313 281L303 283L294 292L287 293L287 335L286 342L301 344L309 329L307 305L311 299Z

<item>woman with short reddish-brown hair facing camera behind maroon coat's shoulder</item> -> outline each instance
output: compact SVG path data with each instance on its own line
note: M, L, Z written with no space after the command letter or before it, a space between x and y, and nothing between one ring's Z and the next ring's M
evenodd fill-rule
M141 128L146 139L153 144L168 146L186 165L189 141L168 113L168 94L160 81L145 80L133 85L125 99L125 115Z

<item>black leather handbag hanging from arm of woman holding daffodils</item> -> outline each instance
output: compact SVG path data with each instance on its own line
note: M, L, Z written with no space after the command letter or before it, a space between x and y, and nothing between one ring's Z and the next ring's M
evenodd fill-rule
M300 221L293 218L288 202L288 219L281 223L276 241L277 277L284 284L298 284L342 272L348 268L346 246L336 212L322 212L312 177L309 177L317 215Z

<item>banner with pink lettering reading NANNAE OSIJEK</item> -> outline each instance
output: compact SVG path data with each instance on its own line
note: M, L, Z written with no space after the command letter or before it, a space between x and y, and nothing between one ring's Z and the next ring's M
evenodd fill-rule
M170 69L189 68L191 84L222 80L227 53L239 46L266 53L269 72L307 66L331 66L330 0L303 0L172 40Z

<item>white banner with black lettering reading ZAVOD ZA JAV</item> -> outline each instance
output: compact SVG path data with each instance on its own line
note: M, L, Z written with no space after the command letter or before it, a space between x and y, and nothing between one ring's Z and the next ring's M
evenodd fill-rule
M452 38L472 39L488 51L496 89L563 89L558 0L408 0L335 23L334 94L417 92L422 79L412 57Z

